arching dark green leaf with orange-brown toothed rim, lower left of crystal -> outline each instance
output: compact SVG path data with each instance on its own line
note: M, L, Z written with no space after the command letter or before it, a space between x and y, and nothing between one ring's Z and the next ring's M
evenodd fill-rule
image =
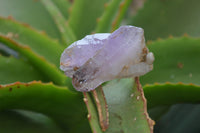
M82 131L89 129L81 95L72 93L66 87L40 82L17 82L0 87L0 110L20 109L42 113L65 132L74 130L76 126L81 127Z

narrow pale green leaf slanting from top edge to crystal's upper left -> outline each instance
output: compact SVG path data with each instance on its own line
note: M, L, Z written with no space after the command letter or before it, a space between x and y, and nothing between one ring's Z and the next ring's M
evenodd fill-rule
M53 1L53 0L52 0ZM71 28L68 26L67 27L67 20L64 18L62 13L59 11L59 9L54 5L54 3L51 0L42 0L42 3L46 7L46 9L49 11L51 14L53 20L56 23L56 26L60 30L63 43L64 44L71 44L76 40L76 37L71 30Z

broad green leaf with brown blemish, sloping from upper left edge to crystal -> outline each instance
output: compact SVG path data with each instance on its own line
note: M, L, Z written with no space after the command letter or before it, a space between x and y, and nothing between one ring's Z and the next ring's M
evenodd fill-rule
M63 47L46 35L15 20L2 17L0 17L0 34L12 38L23 46L29 46L38 55L43 56L57 67L59 66Z

